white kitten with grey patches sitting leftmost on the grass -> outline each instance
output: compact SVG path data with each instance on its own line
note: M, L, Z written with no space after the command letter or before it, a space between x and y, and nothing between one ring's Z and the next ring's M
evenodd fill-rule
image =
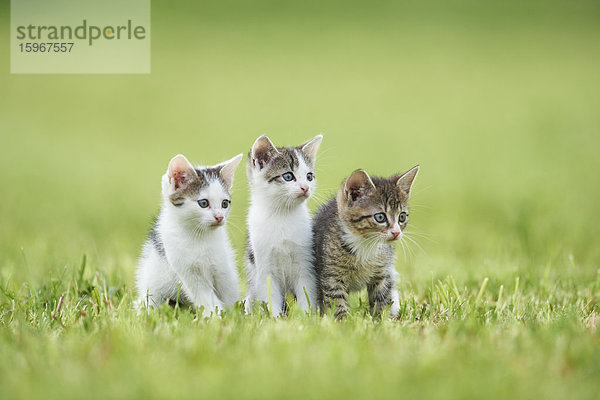
M173 157L162 177L163 206L138 266L138 303L158 307L179 300L203 307L208 316L238 299L225 219L241 159L193 167L183 155Z

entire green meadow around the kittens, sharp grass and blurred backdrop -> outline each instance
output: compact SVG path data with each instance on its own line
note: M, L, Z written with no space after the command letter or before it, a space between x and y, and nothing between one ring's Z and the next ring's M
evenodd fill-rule
M0 398L597 397L596 2L196 3L147 76L9 75L0 6ZM324 134L321 198L421 165L399 321L132 310L170 157L262 133Z

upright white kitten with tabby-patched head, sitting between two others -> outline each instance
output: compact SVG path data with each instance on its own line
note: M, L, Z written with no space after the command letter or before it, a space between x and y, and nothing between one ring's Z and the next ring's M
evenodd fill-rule
M323 136L298 147L275 147L266 136L254 142L247 162L250 184L246 311L268 303L274 316L285 312L291 292L300 308L316 304L311 220L306 200L315 190L315 158ZM307 299L308 297L308 299Z

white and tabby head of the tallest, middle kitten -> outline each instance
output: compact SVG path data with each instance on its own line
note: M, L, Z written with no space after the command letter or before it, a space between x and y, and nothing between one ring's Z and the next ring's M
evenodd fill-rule
M254 142L246 171L252 192L275 207L289 209L315 190L315 158L323 140L317 135L298 147L275 147L266 136Z

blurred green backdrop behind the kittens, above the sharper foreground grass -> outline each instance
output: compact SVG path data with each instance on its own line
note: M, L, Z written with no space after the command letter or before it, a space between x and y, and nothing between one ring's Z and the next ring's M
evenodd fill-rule
M9 16L3 3L4 282L42 285L86 254L132 290L169 159L218 163L264 133L324 135L321 197L356 168L421 165L422 249L398 249L401 290L598 279L597 1L154 1L149 75L10 75ZM240 255L247 193L240 168Z

